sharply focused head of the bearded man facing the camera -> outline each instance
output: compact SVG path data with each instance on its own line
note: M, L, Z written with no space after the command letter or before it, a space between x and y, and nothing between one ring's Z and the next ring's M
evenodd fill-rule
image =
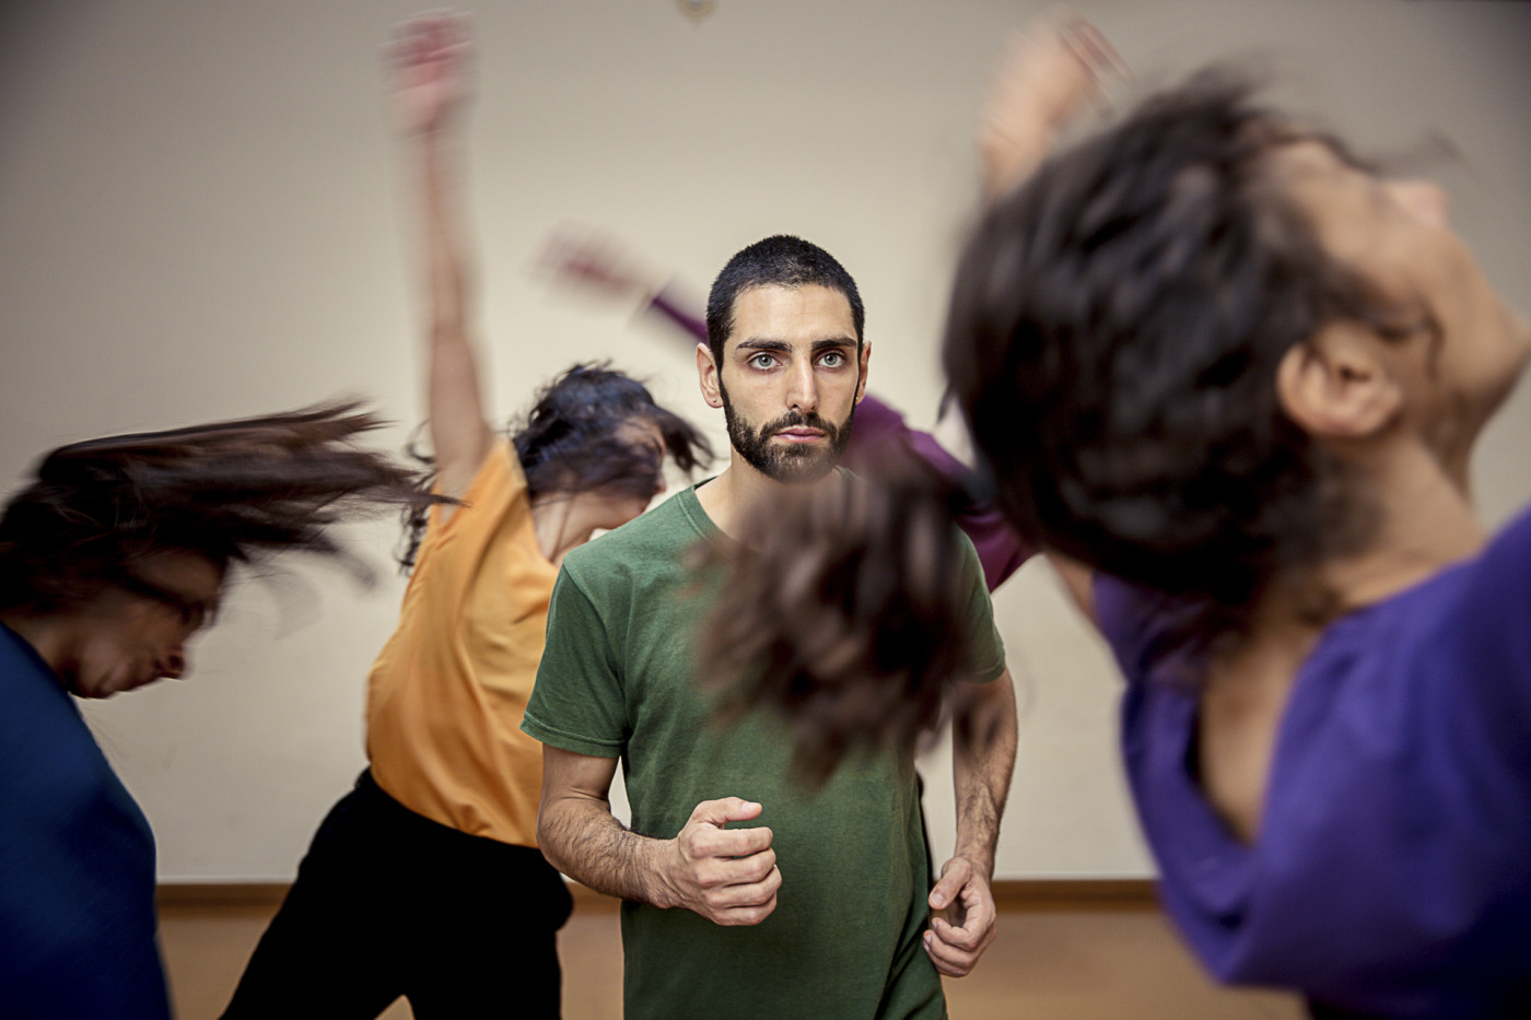
M698 371L746 464L784 482L834 467L867 389L863 325L854 280L816 245L767 237L729 260L707 300Z

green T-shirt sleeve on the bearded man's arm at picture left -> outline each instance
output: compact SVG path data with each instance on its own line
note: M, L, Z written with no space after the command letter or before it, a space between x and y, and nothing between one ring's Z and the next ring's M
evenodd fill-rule
M597 758L619 758L626 747L626 698L611 634L570 564L553 585L547 646L521 729Z

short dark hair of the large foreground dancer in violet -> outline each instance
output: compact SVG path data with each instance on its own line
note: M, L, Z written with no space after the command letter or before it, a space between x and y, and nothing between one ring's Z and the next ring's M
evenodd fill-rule
M1330 257L1272 179L1285 144L1344 149L1251 92L1203 72L1047 161L974 230L946 325L1006 516L1194 603L1200 645L1366 527L1341 466L1278 406L1283 355L1335 320L1431 328Z

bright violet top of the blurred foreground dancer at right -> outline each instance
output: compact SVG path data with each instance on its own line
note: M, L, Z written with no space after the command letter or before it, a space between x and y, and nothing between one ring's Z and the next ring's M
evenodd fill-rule
M1531 513L1324 631L1252 845L1202 795L1151 597L1095 596L1160 894L1213 974L1386 1017L1531 1015Z

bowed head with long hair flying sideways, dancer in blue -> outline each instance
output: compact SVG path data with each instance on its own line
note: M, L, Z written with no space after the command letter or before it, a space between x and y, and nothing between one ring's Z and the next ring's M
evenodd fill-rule
M332 404L54 450L0 516L0 616L46 633L38 651L86 697L184 675L231 564L340 556L328 525L438 501L351 446L378 424Z

